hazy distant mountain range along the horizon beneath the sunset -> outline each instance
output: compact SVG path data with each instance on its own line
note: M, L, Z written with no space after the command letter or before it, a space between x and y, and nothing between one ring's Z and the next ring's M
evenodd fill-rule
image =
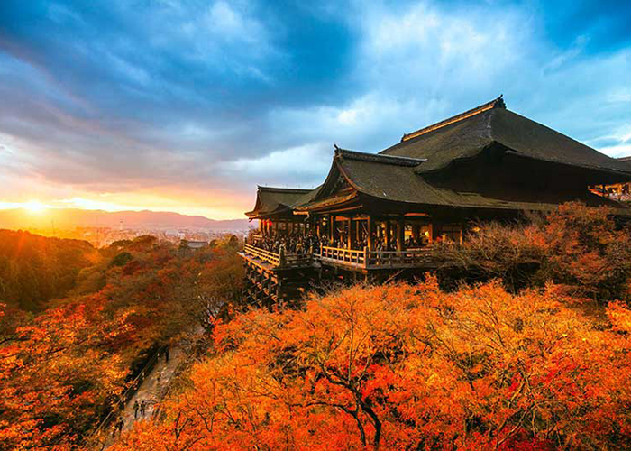
M23 208L0 210L0 229L72 229L80 226L123 227L125 229L199 228L208 230L247 230L247 219L215 220L159 211L103 211L79 208L49 208L31 212Z

